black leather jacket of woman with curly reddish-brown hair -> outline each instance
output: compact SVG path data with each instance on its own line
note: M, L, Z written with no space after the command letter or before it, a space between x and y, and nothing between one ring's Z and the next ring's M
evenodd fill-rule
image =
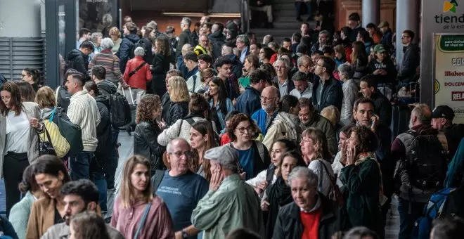
M148 159L155 169L161 169L162 153L165 147L158 144L157 138L161 134L160 127L154 122L138 122L134 131L134 155L142 155Z

